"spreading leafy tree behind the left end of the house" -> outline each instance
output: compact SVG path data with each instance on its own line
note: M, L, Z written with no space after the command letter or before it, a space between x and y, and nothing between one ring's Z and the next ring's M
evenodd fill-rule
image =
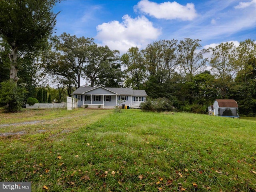
M64 76L72 80L76 88L80 87L83 68L94 42L92 38L77 38L75 35L63 33L52 39L53 50L45 55L45 68L50 74Z

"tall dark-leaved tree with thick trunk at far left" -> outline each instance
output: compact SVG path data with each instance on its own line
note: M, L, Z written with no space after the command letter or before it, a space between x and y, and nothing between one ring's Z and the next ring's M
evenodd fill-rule
M55 26L56 0L1 0L0 36L11 47L10 80L18 82L18 51L39 50Z

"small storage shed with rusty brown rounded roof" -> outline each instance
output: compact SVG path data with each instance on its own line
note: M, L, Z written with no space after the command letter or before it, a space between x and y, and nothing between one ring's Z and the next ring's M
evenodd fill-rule
M234 99L216 99L213 111L214 115L238 117L238 104Z

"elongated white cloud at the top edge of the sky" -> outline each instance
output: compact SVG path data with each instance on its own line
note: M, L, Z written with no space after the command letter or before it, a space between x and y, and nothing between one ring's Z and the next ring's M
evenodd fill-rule
M134 6L134 10L140 10L155 18L166 20L193 20L197 16L194 4L187 3L186 6L183 6L175 1L157 4L148 0L141 0Z

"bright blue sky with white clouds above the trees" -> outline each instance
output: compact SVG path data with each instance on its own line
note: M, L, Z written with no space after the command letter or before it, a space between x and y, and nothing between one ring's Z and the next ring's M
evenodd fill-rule
M157 40L200 39L204 48L256 40L256 0L63 0L55 34L94 38L126 52Z

